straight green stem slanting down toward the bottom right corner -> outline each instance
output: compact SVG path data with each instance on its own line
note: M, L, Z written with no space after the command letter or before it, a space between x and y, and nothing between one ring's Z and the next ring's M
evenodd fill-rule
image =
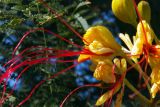
M144 95L142 95L127 79L124 79L124 83L130 90L135 92L135 94L138 95L139 98L141 98L145 103L151 104L151 101L148 98L146 98Z

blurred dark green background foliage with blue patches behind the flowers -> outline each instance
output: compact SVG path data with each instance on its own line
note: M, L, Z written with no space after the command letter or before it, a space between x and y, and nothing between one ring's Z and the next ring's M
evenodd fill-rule
M104 25L108 27L116 40L118 33L129 33L133 35L136 29L128 24L120 22L114 17L111 11L111 0L44 0L55 10L65 21L76 31L83 35L87 28L94 25ZM138 0L136 1L138 2ZM159 0L149 0L152 9L151 26L155 33L160 33L160 10ZM30 29L49 29L77 44L83 45L82 40L64 26L57 16L53 15L37 0L0 0L0 69L5 72L3 64L11 59L11 54L21 37ZM55 36L44 32L31 33L19 48L19 51L30 46L53 47L57 49L78 50L75 46L68 44ZM18 52L19 52L18 51ZM18 53L17 52L17 53ZM74 58L76 59L76 57ZM14 94L5 102L4 107L14 107L27 97L31 89L42 79L66 68L71 63L56 64L55 59L51 59L52 64L41 64L30 68L18 80L14 89ZM67 71L54 79L48 80L40 86L33 96L23 107L58 107L65 96L78 86L87 83L96 83L89 70L90 61L79 64L74 69ZM23 69L23 68L22 68ZM22 70L21 69L21 70ZM20 70L20 71L21 71ZM14 84L15 78L20 71L13 73L7 83L9 92ZM137 84L135 77L137 74L128 74L133 84ZM2 90L2 87L1 87ZM72 95L67 100L65 107L93 107L96 99L102 90L96 88L85 88ZM125 93L124 106L140 106L138 99L127 100L129 90ZM114 98L113 98L114 99Z

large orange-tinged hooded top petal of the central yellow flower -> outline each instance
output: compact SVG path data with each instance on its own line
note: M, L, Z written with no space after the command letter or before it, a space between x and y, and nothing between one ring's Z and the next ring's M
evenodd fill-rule
M98 41L103 47L113 50L121 50L121 46L115 41L112 33L104 26L90 27L84 34L83 39L86 45L90 45L93 41Z

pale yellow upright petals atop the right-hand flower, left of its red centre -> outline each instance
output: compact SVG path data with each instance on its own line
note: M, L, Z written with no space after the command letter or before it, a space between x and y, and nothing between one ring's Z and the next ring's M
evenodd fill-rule
M137 33L136 36L133 36L133 43L128 34L123 35L120 33L119 37L129 48L131 55L139 56L143 53L144 46L152 45L155 34L150 25L143 20L137 25Z

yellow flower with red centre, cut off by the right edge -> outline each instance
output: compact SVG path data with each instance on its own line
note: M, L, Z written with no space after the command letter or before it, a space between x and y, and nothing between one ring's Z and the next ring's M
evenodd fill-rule
M152 83L150 93L152 98L155 98L156 93L160 90L160 46L158 44L153 45L153 41L155 40L156 42L157 38L152 28L145 20L139 22L139 24L137 25L136 36L133 37L133 44L128 34L120 34L119 37L129 48L131 55L139 57L144 53L147 56L147 63L149 63L152 69L152 73L150 75ZM133 56L132 60L134 60L134 62L137 62L137 59L134 59Z

